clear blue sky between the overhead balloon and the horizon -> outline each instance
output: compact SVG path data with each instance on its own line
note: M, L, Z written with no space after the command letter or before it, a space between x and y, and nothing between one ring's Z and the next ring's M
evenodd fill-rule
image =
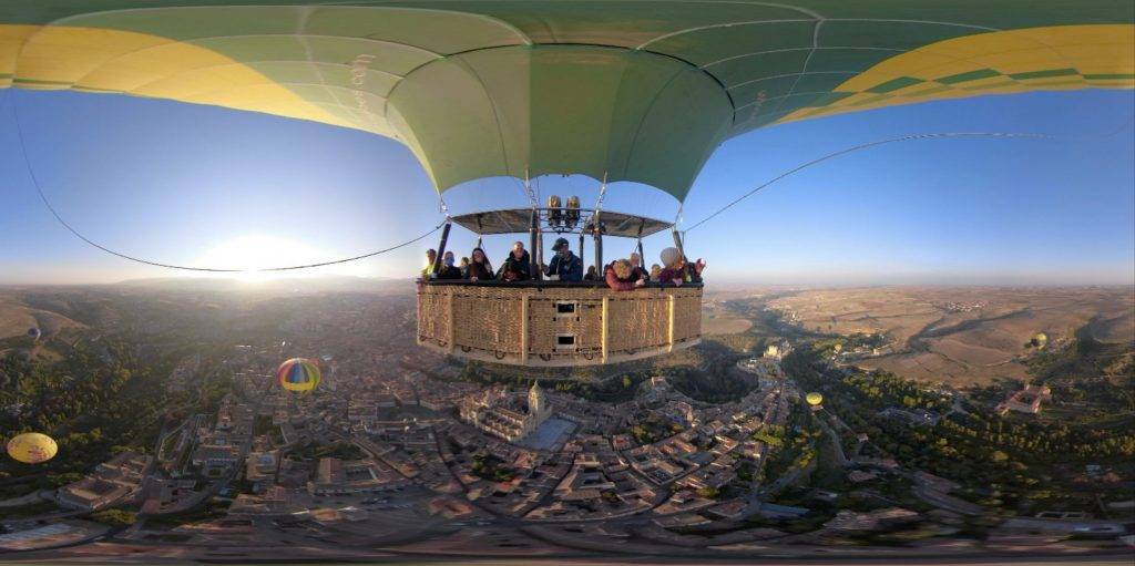
M108 247L167 263L232 257L268 238L285 259L387 247L435 226L429 179L401 144L318 124L69 92L0 91L0 284L109 282L177 274L109 256L62 229L28 179L31 161L59 212ZM1037 132L1075 140L891 144L784 179L688 235L707 276L758 284L1135 282L1132 91L941 101L787 124L723 144L684 206L686 226L780 172L846 146L920 132ZM541 196L594 203L597 181L545 177ZM454 211L523 206L516 179L445 194ZM605 209L672 219L678 203L619 183ZM474 237L454 230L457 251ZM669 235L648 238L648 262ZM512 238L487 240L499 260ZM436 239L360 262L352 274L409 277ZM287 245L295 247L288 250ZM606 256L630 240L606 243ZM212 251L212 252L210 252ZM229 254L232 255L232 254ZM590 251L588 251L590 256ZM263 257L261 259L263 260ZM267 260L263 260L267 261Z

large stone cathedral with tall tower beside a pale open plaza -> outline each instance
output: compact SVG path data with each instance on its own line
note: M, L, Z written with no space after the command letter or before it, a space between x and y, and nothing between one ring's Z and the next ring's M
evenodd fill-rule
M539 383L528 390L527 406L521 395L493 388L480 397L472 397L460 406L461 419L493 436L515 442L540 426L552 416L552 404Z

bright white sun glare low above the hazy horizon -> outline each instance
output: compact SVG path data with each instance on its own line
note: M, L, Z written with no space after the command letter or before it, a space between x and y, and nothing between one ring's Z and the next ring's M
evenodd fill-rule
M330 273L363 274L360 267L351 264L310 270L255 271L258 269L284 265L319 263L337 257L333 255L331 252L287 238L268 235L249 235L239 236L209 248L193 264L217 269L246 270L239 273L230 273L232 277L243 281L263 281L285 277L310 277Z

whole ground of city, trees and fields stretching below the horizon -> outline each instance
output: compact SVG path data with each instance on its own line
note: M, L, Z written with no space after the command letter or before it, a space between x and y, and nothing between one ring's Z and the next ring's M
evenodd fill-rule
M1129 561L1130 301L709 292L699 346L528 369L418 347L409 284L9 288L0 430L59 454L0 465L0 561Z

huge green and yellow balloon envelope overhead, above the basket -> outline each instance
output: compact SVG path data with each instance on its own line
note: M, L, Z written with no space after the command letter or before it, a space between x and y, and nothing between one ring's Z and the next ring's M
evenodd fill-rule
M405 144L439 192L580 174L681 201L720 144L757 128L983 94L1130 88L1130 6L6 1L0 88L370 132Z

